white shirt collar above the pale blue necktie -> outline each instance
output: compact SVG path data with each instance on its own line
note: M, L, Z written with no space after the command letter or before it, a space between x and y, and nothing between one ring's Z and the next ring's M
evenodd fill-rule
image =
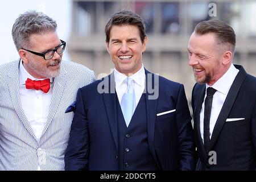
M123 75L122 73L118 72L117 69L114 68L115 86L119 87L126 78L126 75ZM130 76L130 78L132 78L139 86L143 86L145 83L144 65L142 64L141 69L139 69L138 72Z

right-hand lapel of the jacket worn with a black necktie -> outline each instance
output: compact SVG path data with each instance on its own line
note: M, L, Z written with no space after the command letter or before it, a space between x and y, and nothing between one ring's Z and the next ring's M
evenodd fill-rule
M234 101L237 98L237 94L241 88L243 80L245 80L245 77L246 77L246 72L245 72L245 69L243 69L243 67L241 67L239 65L235 65L235 67L240 69L240 71L238 72L238 74L229 90L228 96L226 97L226 100L222 106L220 114L218 115L218 119L217 119L216 124L213 129L212 138L210 139L210 146L209 146L210 150L211 150L211 148L213 148L214 144L216 143L218 135L220 134L222 127L224 126L224 124L226 122L226 118L228 118L228 115L230 113L230 110L232 109Z

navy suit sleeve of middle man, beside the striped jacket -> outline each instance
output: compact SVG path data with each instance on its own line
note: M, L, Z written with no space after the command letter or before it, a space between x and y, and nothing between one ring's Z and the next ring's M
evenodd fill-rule
M71 125L68 147L65 152L65 170L87 170L89 131L81 89L77 92L76 111Z

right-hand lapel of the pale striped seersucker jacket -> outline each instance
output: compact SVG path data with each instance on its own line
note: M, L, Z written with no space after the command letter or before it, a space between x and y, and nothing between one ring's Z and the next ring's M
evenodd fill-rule
M51 104L49 106L47 122L42 132L42 136L44 132L46 132L49 124L51 123L52 118L55 115L57 108L59 107L60 100L63 99L63 91L66 83L67 83L67 72L65 71L64 65L61 64L60 75L54 78Z

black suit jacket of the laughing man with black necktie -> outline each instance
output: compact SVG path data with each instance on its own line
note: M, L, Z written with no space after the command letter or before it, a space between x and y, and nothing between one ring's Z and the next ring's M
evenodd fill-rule
M192 91L194 134L201 170L254 170L256 166L256 78L247 74L241 65L224 105L218 115L210 139L209 151L216 152L217 164L209 164L200 135L200 110L205 84L195 84ZM240 118L226 122L226 119ZM244 118L244 119L243 119Z

